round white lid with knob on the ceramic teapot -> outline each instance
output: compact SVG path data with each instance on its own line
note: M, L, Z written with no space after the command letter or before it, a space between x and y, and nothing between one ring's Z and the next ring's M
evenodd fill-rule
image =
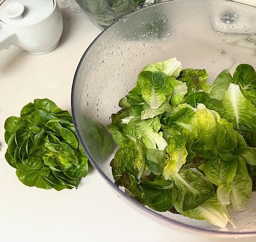
M40 22L50 15L53 0L4 0L0 3L0 24L24 26Z

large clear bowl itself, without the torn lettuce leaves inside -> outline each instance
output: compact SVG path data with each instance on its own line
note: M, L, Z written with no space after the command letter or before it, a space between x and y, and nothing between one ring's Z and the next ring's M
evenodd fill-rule
M72 114L87 156L114 190L131 205L169 226L214 236L256 236L256 196L248 210L232 215L236 229L219 229L171 212L156 212L114 184L106 125L119 100L134 87L149 63L176 57L183 68L206 68L211 82L240 63L256 67L255 7L225 0L176 0L158 3L119 19L94 40L77 67Z

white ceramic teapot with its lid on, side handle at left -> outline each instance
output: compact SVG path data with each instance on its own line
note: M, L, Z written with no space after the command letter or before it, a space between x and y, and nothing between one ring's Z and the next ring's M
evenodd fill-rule
M0 50L16 45L46 54L58 46L62 32L56 0L0 0Z

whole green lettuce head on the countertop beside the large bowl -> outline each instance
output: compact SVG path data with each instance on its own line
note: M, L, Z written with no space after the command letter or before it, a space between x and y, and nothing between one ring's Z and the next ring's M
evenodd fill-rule
M28 186L62 190L77 188L88 172L72 117L49 99L35 99L21 117L5 121L5 158Z

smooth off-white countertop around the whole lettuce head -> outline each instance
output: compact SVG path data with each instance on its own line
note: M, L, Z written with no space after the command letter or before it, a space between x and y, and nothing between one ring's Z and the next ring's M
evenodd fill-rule
M64 33L57 49L32 56L11 46L0 51L0 241L1 242L253 242L214 238L165 227L132 208L91 169L77 190L42 190L18 181L5 161L4 121L36 98L70 110L71 85L86 47L100 33L83 12L62 9Z

